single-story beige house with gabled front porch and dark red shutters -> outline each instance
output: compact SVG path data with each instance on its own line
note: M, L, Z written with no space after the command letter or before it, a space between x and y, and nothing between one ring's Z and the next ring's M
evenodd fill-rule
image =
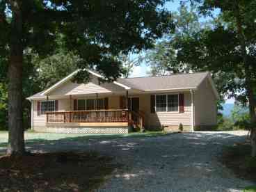
M209 72L117 79L102 83L68 75L31 97L31 126L58 133L128 133L135 129L184 131L216 125L218 93Z

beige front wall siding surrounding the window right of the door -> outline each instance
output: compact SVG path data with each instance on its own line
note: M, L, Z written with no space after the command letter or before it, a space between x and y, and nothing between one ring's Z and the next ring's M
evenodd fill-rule
M184 113L178 111L150 113L150 94L140 95L139 97L140 110L145 113L146 127L179 125L179 123L191 126L191 95L189 92L184 93Z

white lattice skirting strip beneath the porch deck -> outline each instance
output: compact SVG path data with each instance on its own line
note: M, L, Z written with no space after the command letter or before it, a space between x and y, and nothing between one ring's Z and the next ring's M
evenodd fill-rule
M130 127L34 127L34 131L59 134L128 134Z

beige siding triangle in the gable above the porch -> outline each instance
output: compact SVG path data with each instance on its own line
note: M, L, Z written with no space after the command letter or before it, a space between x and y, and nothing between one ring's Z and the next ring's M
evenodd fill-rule
M56 90L51 91L49 95L86 95L95 93L116 93L123 91L124 88L116 86L113 83L99 83L97 78L91 79L90 82L84 83L72 83L67 81L62 86L56 88Z

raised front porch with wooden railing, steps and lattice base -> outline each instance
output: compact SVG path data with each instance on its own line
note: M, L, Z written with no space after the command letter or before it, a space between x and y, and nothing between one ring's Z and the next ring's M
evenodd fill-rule
M47 112L46 130L62 133L128 133L145 127L141 112L124 109Z

